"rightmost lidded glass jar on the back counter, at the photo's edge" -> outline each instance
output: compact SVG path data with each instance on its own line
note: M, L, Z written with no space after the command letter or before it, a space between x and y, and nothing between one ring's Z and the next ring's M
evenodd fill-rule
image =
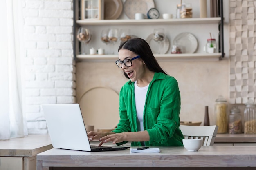
M245 134L256 134L256 108L252 100L245 104L244 121Z

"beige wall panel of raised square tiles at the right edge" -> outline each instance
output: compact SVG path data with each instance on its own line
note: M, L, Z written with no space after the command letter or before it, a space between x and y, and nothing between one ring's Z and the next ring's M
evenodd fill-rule
M229 1L229 102L256 102L256 1Z

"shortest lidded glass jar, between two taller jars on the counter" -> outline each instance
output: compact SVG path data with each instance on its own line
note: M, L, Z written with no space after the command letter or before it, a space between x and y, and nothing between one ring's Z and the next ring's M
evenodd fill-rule
M237 106L233 106L229 115L229 134L242 133L242 115Z

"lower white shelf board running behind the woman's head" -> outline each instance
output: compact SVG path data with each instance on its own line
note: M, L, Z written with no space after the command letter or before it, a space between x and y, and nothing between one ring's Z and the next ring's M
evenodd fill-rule
M182 54L154 54L157 60L184 60L184 59L192 59L192 60L212 60L218 61L220 60L221 53L182 53ZM81 61L112 61L118 59L118 55L76 55L76 58Z

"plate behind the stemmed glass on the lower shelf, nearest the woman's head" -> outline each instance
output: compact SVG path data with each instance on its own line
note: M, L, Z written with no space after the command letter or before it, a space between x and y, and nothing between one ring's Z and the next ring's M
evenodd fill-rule
M158 44L158 42L153 40L153 33L148 35L148 38L146 39L146 42L148 42L148 44L149 44L153 54L158 54L159 53L159 44ZM160 45L162 46L160 53L161 54L167 53L167 51L170 48L170 41L169 41L169 39L166 37L164 39L164 41L160 43Z

